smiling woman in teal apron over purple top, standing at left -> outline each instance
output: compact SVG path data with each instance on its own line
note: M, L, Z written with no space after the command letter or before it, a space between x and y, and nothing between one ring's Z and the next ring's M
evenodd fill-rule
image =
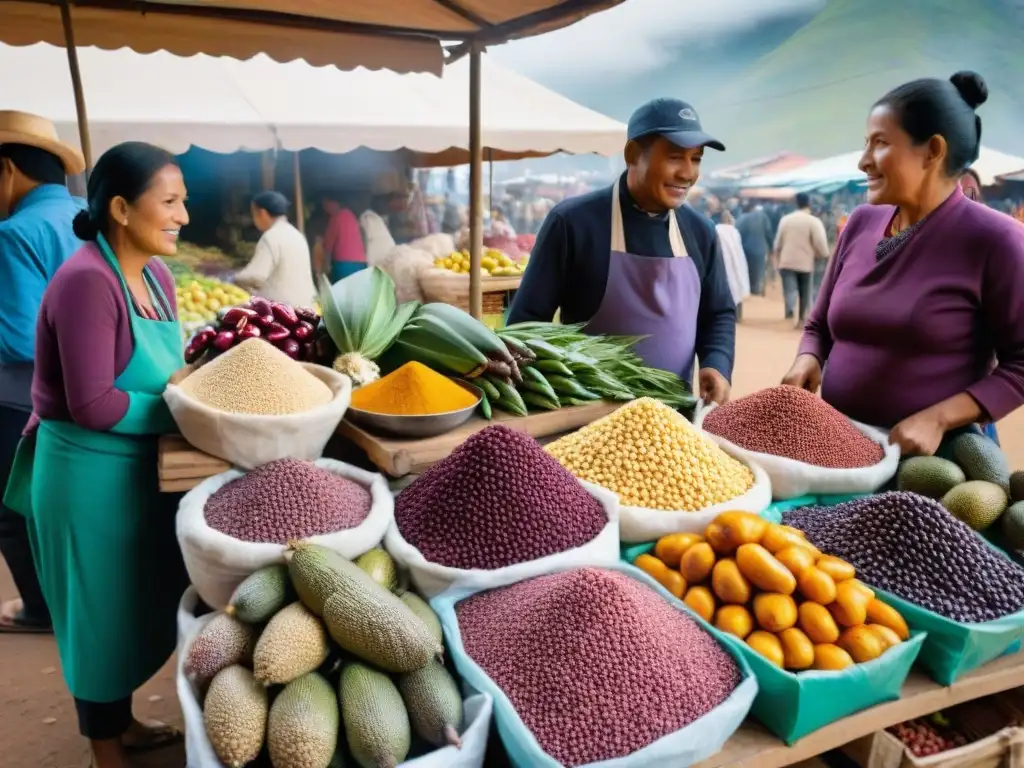
M94 768L125 768L132 749L180 737L132 717L131 696L170 658L187 578L174 532L177 499L157 482L157 438L174 430L163 401L183 366L173 255L188 222L172 156L113 147L75 219L87 245L43 298L35 418L5 501L28 518L60 665ZM38 420L38 426L36 422Z

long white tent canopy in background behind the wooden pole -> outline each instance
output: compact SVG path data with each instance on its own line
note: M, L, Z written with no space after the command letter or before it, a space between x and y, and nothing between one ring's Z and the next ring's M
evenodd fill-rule
M421 154L469 143L469 63L442 78L199 54L79 51L93 152L129 139L180 154L359 146ZM0 44L0 104L53 120L78 144L65 51ZM626 127L483 57L482 139L495 159L622 152ZM500 153L500 154L499 154ZM464 162L464 161L463 161Z

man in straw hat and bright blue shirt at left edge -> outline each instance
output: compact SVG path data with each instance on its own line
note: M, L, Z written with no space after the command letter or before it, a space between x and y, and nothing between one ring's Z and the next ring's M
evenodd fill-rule
M32 415L43 291L82 246L72 220L84 203L72 198L66 182L84 170L81 154L57 138L48 120L0 112L0 493ZM0 509L0 552L20 594L0 606L0 633L49 632L25 518L6 507Z

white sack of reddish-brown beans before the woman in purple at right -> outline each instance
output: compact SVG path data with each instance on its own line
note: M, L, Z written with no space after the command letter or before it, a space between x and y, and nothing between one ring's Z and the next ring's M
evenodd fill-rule
M719 445L755 462L777 500L872 494L899 467L888 434L847 419L817 395L786 385L762 389L695 418Z

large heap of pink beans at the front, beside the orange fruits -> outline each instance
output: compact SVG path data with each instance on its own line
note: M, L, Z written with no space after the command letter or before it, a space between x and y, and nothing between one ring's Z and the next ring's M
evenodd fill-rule
M740 683L709 633L623 571L541 575L455 607L466 654L561 765L630 755L712 712Z

